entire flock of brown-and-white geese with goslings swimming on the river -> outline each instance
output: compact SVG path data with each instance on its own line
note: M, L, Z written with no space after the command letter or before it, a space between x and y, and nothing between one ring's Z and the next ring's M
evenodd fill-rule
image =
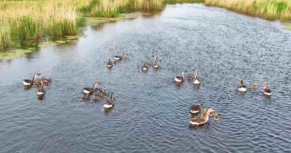
M108 60L106 67L112 68L113 65L116 64L117 61L121 61L127 55L128 54L124 53L122 56L114 56L114 60L110 60L110 59ZM154 56L154 63L152 64L152 67L154 69L162 68L161 65L157 62L157 59L158 57ZM141 65L141 71L147 72L149 70L150 65L151 63L149 61L145 61L144 64ZM195 69L193 71L194 71L194 75L188 76L187 80L199 86L201 84L201 81L198 78L198 70ZM184 76L185 73L186 71L183 70L180 76L174 78L174 81L177 84L183 83L186 80ZM45 95L44 85L46 86L49 85L49 83L52 82L52 79L51 78L36 79L37 75L40 75L40 73L34 73L32 80L23 80L23 84L25 87L28 87L28 88L40 87L36 95L38 99L42 100ZM247 86L243 84L243 79L237 78L237 81L240 81L238 91L245 93L247 91ZM81 97L80 101L89 100L91 95L93 95L93 100L91 101L91 103L95 103L102 99L107 98L108 97L107 89L105 87L102 87L101 89L99 89L98 88L99 85L101 85L101 83L96 82L93 84L91 88L83 88L83 97ZM252 82L252 88L257 89L257 85L254 82ZM263 94L266 96L272 95L272 91L268 87L267 83L264 83ZM110 98L104 103L103 108L107 110L111 110L113 107L114 107L113 93L111 93ZM203 112L202 112L202 105L200 103L192 105L189 109L188 115L192 117L191 120L189 121L190 123L189 126L192 128L197 128L198 126L208 123L209 117L213 117L215 121L218 121L220 119L218 116L218 113L215 112L212 107L210 107L209 109L204 107Z

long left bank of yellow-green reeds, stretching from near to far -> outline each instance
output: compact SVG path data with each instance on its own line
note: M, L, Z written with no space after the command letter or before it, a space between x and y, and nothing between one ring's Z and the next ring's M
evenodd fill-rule
M75 35L83 16L117 17L121 13L162 9L167 3L204 0L0 0L0 51L22 40Z

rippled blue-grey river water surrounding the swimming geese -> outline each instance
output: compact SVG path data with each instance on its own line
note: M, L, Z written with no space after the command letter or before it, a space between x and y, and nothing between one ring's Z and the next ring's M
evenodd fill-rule
M87 27L77 43L43 48L0 65L0 152L289 152L291 33L278 23L199 4L152 17ZM107 59L130 55L111 70ZM158 56L162 69L140 70ZM174 77L200 71L200 89ZM53 78L43 101L21 80ZM188 75L187 74L187 75ZM243 77L248 86L238 95ZM100 81L114 92L79 102ZM251 81L259 88L252 90ZM273 96L262 95L267 81ZM221 120L190 129L188 108L213 106Z

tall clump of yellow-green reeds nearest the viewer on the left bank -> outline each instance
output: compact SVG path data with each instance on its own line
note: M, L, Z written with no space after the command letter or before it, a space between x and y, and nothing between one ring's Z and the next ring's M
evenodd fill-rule
M77 33L84 23L76 6L87 1L1 1L0 49L12 47L18 40L64 36Z

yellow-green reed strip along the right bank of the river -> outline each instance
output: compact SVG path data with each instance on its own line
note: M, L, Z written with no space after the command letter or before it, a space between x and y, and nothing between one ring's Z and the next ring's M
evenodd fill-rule
M205 0L205 4L269 20L291 20L290 0Z

